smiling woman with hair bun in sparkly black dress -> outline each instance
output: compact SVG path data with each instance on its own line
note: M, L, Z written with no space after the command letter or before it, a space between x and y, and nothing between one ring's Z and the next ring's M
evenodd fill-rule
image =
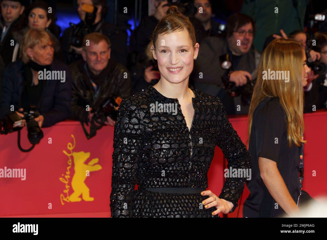
M250 153L220 100L188 88L199 44L192 24L176 6L167 13L153 32L151 46L161 79L119 107L112 154L112 217L231 213L246 177L227 178L219 197L206 190L215 146L222 149L228 168L250 168ZM152 109L153 104L158 108Z

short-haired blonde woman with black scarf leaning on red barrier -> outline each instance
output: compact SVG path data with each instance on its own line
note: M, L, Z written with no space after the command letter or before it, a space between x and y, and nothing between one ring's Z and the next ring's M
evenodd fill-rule
M31 105L37 106L40 115L34 120L39 127L49 127L69 117L71 77L67 66L53 58L53 44L46 31L38 28L27 31L21 44L22 60L10 63L4 73L0 119L12 113L11 105L21 118ZM40 76L44 69L60 71L65 78Z

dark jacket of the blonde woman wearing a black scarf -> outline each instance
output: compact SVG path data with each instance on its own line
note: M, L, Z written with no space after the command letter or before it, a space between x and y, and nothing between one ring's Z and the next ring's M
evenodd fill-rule
M67 66L54 59L50 71L66 71L65 82L59 80L46 80L42 93L42 105L39 103L41 115L44 117L42 127L50 127L53 124L67 119L70 115L71 100L71 76ZM2 81L1 111L0 118L11 113L10 105L18 110L22 95L24 77L24 62L17 60L6 68Z

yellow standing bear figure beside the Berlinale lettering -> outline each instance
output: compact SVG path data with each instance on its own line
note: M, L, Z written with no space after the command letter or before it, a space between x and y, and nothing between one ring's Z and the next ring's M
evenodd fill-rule
M82 195L84 201L93 201L94 198L90 197L90 189L84 183L87 174L86 171L90 172L98 171L102 167L98 163L98 158L93 158L88 164L85 164L85 161L90 157L90 152L73 152L74 157L74 170L75 174L72 178L72 188L74 192L69 196L69 201L79 202Z

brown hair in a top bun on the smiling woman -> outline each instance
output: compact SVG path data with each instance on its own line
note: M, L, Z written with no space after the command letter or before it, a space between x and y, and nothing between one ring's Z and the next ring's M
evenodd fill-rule
M163 17L157 24L152 33L152 42L154 50L156 50L156 42L159 34L167 34L173 32L179 32L187 30L195 49L197 40L195 38L195 31L190 20L181 13L181 10L177 6L170 6L166 12L166 16Z

